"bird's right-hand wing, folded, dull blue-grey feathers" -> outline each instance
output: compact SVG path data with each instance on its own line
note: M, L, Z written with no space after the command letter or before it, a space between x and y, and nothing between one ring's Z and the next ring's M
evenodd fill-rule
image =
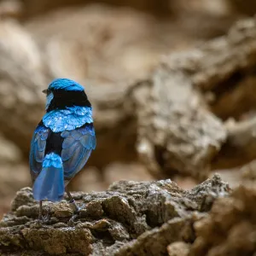
M64 177L70 180L78 173L96 148L96 136L93 124L85 124L73 131L62 131L61 159L64 166Z

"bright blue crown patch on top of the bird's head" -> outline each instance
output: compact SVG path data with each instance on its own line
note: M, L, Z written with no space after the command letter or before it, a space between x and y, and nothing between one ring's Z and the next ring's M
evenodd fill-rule
M71 79L55 79L49 84L48 89L82 91L84 87Z

